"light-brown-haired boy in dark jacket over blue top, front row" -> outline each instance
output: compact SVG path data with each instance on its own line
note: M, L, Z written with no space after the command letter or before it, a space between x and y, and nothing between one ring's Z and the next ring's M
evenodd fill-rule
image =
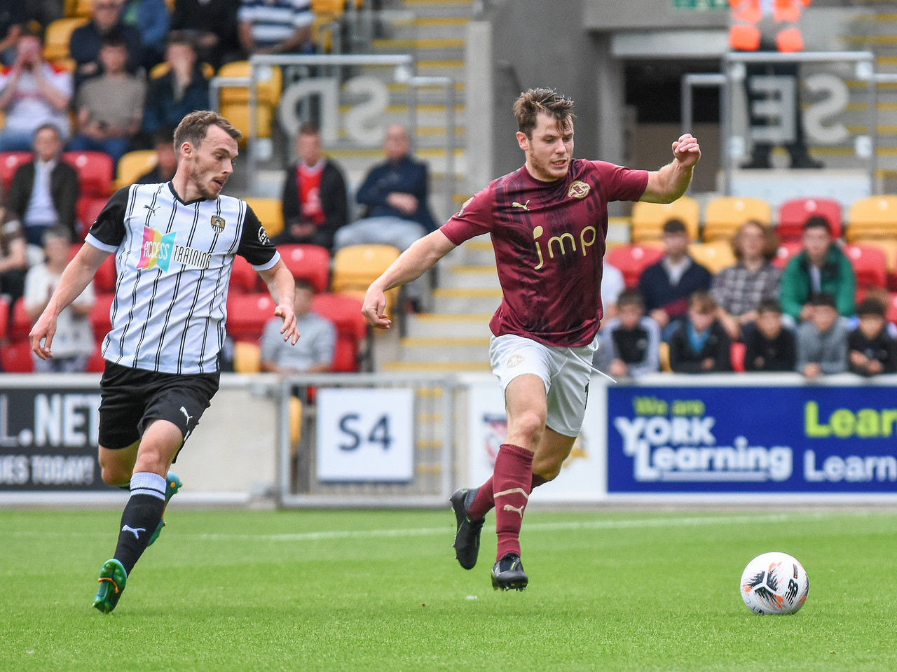
M680 374L731 371L732 341L717 319L717 302L709 291L696 291L688 312L670 336L670 367Z

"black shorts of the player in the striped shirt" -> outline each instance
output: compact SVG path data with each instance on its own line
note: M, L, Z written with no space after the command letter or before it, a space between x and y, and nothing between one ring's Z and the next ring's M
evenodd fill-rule
M144 435L150 420L173 422L187 436L209 408L221 374L161 374L106 362L100 381L100 445L118 450Z

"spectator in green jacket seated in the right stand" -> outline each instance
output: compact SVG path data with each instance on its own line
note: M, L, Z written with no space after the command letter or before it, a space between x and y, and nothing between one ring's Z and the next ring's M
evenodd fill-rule
M829 222L811 217L804 224L804 249L788 261L779 283L779 300L785 314L799 323L814 312L810 300L825 292L835 297L835 306L844 317L854 313L857 277L850 260L832 241Z

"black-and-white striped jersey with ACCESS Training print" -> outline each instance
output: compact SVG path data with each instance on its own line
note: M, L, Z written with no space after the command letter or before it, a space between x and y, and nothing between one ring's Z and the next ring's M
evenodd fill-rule
M183 202L170 182L119 189L86 240L116 258L103 358L166 374L218 369L234 254L257 271L280 260L245 201Z

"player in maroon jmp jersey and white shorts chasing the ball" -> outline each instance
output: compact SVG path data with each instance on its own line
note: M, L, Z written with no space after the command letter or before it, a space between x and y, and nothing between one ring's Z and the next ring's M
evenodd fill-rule
M484 516L495 508L492 587L502 590L527 587L519 533L529 493L558 475L582 428L602 318L607 202L673 202L701 158L698 141L684 134L659 170L573 159L573 101L550 89L520 94L514 114L525 165L405 250L371 283L362 306L371 325L388 329L388 289L418 278L465 240L491 234L502 299L490 322L490 358L505 393L508 435L492 478L457 490L451 504L465 569L476 564Z

